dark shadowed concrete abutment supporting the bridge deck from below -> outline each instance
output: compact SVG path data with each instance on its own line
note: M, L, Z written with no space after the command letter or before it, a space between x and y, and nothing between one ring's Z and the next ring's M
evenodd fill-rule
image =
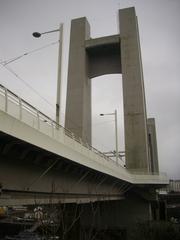
M138 223L153 220L151 201L131 191L124 200L96 202L81 207L81 239L87 236L128 239Z

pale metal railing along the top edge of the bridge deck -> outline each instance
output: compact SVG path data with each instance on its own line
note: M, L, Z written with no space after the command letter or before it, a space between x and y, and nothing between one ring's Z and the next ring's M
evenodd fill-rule
M28 125L36 128L37 130L41 131L42 124L46 124L51 129L51 137L54 137L54 131L59 131L60 129L64 132L64 134L73 139L74 141L78 142L83 147L91 150L92 152L96 153L98 156L104 158L107 161L113 161L111 158L106 156L104 153L100 152L98 149L94 148L93 146L89 145L88 143L84 142L80 137L76 136L70 130L64 128L63 126L59 125L56 121L42 113L40 110L20 98L18 95L4 87L0 84L0 108L4 110L6 113L13 115L17 119L22 122L29 123L29 118L33 119L33 122L29 123ZM15 106L18 109L15 109ZM26 117L26 119L25 119ZM44 131L43 131L44 132ZM48 134L49 135L49 134ZM120 165L120 164L118 164ZM120 165L121 166L121 165Z

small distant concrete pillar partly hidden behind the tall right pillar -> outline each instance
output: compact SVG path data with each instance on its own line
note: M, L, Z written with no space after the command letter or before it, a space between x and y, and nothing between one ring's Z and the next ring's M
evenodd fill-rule
M150 170L151 172L159 172L158 164L158 150L157 150L157 140L156 140L156 126L155 119L148 119L148 141L149 141L149 155L150 155Z

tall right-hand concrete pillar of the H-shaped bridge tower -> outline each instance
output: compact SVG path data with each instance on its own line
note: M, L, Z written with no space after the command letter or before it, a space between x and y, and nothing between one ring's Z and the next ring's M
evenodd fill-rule
M144 80L134 8L119 10L126 167L149 171Z

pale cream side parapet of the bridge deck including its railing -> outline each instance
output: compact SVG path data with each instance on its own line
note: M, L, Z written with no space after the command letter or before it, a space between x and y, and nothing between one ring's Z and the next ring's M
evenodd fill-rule
M2 132L129 183L168 183L165 174L128 171L2 85L0 109Z

